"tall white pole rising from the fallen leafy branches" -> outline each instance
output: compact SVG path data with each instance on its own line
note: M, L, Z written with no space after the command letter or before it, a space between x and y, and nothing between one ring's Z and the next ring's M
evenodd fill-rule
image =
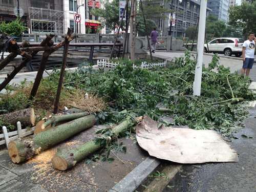
M207 8L207 0L201 0L198 41L197 41L197 65L196 65L196 71L195 71L195 81L193 85L194 96L195 95L200 96L200 93L201 93L206 8Z

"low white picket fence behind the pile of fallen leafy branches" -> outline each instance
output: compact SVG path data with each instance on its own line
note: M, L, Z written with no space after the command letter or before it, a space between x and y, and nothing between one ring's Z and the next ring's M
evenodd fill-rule
M159 63L147 63L147 62L141 62L140 68L142 69L152 69L153 67L166 67L167 60ZM106 67L106 68L114 68L119 65L119 62L110 62L109 59L102 59L97 60L97 66L98 67ZM137 66L133 66L133 68L137 68Z

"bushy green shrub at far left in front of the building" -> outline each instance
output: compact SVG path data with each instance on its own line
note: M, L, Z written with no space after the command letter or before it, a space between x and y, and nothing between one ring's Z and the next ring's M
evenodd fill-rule
M6 23L4 20L2 24L0 24L0 33L5 32L9 35L19 36L22 32L25 32L27 27L24 22L20 22L21 18L22 17L17 17L16 20L10 23Z

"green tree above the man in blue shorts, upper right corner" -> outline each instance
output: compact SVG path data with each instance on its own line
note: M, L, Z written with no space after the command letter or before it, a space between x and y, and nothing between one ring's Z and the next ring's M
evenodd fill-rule
M229 8L229 22L228 24L236 28L242 28L245 34L256 30L256 2L255 1L242 1L240 6L232 6Z

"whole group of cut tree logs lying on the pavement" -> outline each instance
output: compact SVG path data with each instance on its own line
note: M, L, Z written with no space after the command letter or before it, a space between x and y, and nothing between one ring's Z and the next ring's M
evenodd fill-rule
M88 129L95 124L94 115L90 115L89 113L81 110L70 111L76 112L67 115L54 115L49 118L45 118L36 124L34 135L11 141L8 145L8 153L12 162L20 163L29 160L40 152L47 150L53 145ZM18 112L15 112L15 115L14 113L5 114L3 115L3 119L9 122L11 122L11 120L12 122L15 122L18 120L13 120L12 118L8 117L26 116L26 118L19 119L19 121L22 120L22 124L33 125L35 121L33 109L19 111L19 114L24 115L17 115L17 113ZM140 117L139 120L141 119L142 118ZM137 121L138 119L135 122ZM126 118L122 123L116 126L112 132L118 135L119 132L127 129L127 126L129 126L129 124L132 122L135 123L131 120L131 118ZM104 135L101 137L105 138L106 140L110 139ZM52 158L52 165L59 170L66 170L73 167L77 162L91 155L100 148L100 144L96 144L93 140L84 143L73 150L68 150L65 147L58 148L57 154Z

